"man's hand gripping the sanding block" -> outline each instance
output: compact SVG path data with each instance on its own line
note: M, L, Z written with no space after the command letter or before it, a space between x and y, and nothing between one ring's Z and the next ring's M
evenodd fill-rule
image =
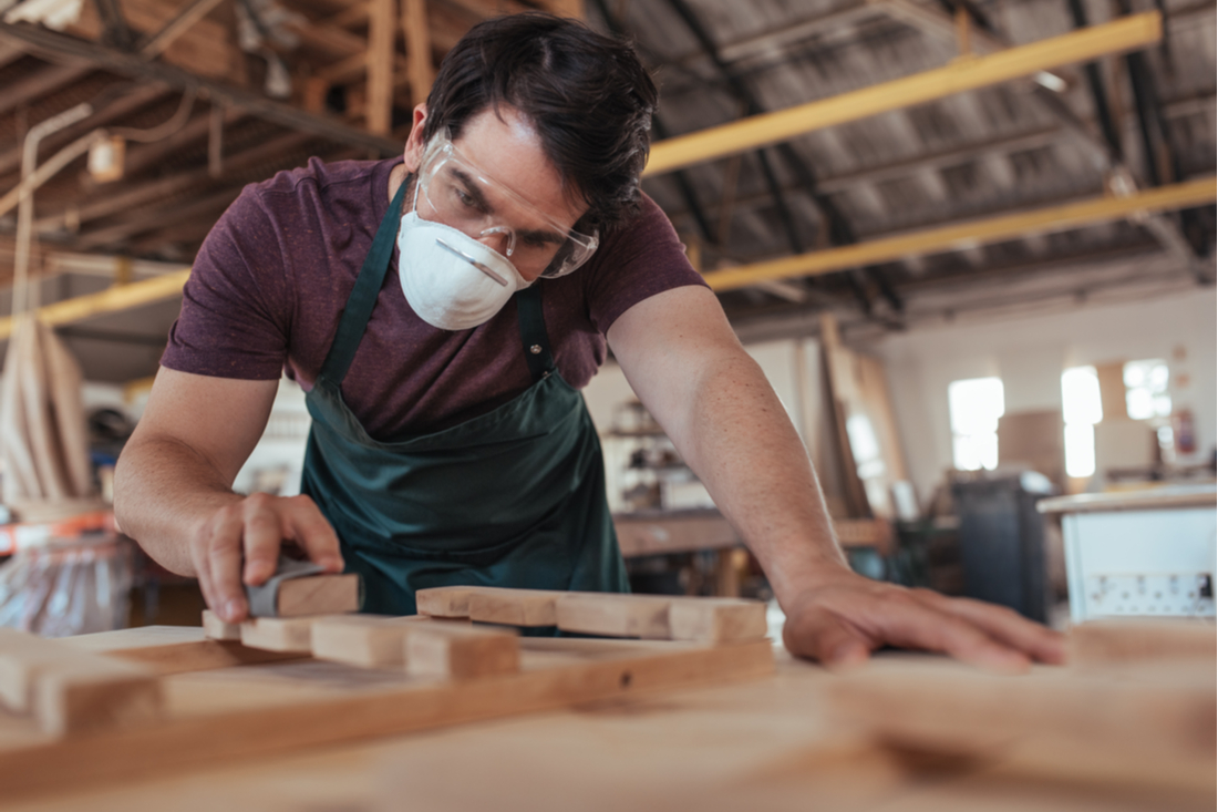
M244 621L250 607L242 584L264 584L285 541L326 571L342 571L339 539L308 496L253 494L216 511L190 539L207 606L229 623Z

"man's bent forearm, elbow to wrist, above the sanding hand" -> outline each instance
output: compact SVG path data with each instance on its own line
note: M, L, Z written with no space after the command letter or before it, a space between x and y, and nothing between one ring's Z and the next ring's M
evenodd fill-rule
M225 477L190 445L139 435L114 471L114 517L157 563L196 577L190 539L219 508L240 501Z

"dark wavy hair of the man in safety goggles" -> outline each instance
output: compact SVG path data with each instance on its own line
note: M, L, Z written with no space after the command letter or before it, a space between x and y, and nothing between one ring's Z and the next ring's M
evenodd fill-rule
M423 135L507 104L524 113L565 183L587 202L583 227L613 228L637 210L657 90L630 44L574 20L520 13L487 20L448 51Z

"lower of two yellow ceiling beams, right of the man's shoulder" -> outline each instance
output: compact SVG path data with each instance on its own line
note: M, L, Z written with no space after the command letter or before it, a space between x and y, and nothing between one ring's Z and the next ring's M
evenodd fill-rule
M762 280L795 279L844 271L859 265L892 262L901 257L960 250L988 243L1082 228L1142 212L1161 212L1212 204L1218 198L1218 178L1191 180L1139 191L1128 198L1096 198L1016 215L952 223L911 234L899 234L856 245L811 251L798 256L756 262L704 276L713 290L734 290Z

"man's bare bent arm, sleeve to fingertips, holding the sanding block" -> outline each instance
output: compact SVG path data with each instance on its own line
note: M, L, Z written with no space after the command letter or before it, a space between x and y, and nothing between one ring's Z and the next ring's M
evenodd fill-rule
M114 472L123 532L167 569L199 578L207 605L229 622L246 616L242 582L266 582L285 539L326 569L342 569L337 538L311 499L231 489L276 390L276 380L162 367Z

